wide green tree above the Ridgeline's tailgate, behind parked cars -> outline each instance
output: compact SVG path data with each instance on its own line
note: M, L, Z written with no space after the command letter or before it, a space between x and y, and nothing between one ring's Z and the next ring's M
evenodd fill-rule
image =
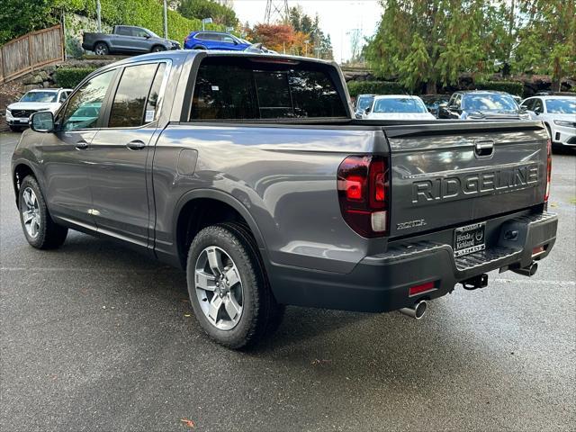
M378 76L397 76L414 91L457 82L461 72L491 73L490 0L381 0L384 13L365 57Z

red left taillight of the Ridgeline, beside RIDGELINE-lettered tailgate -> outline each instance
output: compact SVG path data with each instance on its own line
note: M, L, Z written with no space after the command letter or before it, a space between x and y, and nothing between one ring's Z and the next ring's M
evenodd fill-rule
M383 157L349 156L338 166L340 210L351 229L367 238L388 231L390 183Z

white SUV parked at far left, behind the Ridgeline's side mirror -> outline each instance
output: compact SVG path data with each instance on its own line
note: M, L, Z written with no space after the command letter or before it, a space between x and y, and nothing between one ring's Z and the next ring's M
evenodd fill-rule
M6 107L6 122L11 130L28 127L28 118L33 112L50 111L56 113L68 95L69 88L38 88L24 94L20 101Z

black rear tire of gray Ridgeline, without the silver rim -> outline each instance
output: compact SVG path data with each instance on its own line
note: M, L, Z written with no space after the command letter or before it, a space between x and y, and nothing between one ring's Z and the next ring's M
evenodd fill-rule
M206 247L219 247L233 260L243 288L242 312L232 329L218 329L202 311L196 295L196 261ZM236 222L220 223L202 229L193 239L186 265L188 293L196 320L210 338L232 349L251 347L270 335L284 316L284 306L274 298L256 241L247 228ZM215 294L214 294L215 295Z

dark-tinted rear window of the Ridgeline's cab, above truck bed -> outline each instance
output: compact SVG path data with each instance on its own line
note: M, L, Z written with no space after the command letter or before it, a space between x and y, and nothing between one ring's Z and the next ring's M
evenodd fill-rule
M347 117L327 69L313 63L204 59L190 121Z

